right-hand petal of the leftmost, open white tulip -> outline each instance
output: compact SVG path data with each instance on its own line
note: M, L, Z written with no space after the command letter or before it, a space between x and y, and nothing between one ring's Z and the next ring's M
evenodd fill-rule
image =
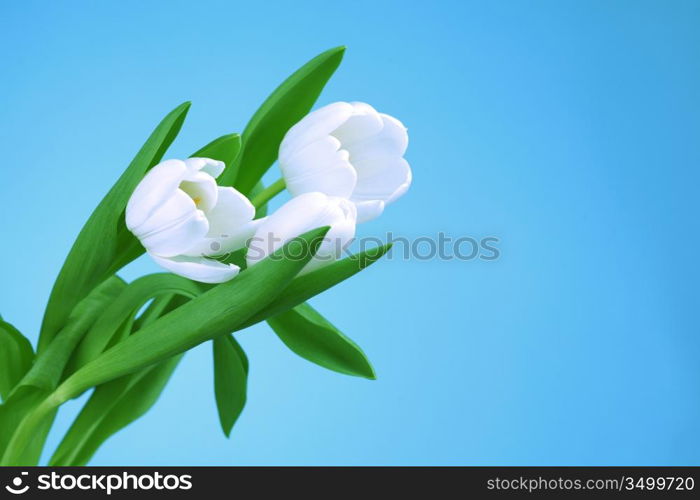
M243 248L262 222L253 220L255 207L232 187L219 187L218 202L206 215L209 232L186 255L224 255Z

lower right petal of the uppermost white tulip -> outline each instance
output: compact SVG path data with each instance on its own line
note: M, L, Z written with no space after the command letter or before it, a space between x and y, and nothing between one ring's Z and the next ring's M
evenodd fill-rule
M376 157L355 162L357 186L353 201L381 200L392 203L411 185L411 167L403 158Z

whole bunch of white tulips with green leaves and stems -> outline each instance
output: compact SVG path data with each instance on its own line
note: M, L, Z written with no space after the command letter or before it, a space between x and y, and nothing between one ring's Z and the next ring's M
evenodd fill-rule
M0 319L0 463L36 465L59 407L92 390L50 465L84 465L156 402L183 354L211 341L228 436L246 401L234 338L267 321L297 355L374 378L362 350L306 301L379 259L340 257L357 223L408 189L406 129L363 103L310 112L344 49L315 57L263 103L243 134L161 161L189 103L168 114L78 235L54 284L36 352ZM265 187L278 160L282 178ZM284 189L290 201L273 213ZM143 253L170 272L131 283Z

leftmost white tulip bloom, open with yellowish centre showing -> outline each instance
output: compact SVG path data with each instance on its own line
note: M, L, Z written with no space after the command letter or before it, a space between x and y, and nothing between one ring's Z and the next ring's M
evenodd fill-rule
M238 266L207 257L244 247L259 222L245 196L217 186L223 170L209 158L166 160L146 174L126 207L126 226L159 265L203 283L238 274Z

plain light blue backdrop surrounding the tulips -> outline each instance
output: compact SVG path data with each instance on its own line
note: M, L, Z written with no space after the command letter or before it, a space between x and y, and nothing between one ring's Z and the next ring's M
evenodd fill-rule
M394 258L313 301L376 382L241 334L231 440L200 346L93 463L699 464L700 3L254 4L2 3L3 316L36 339L80 227L166 112L193 101L169 152L188 155L340 44L319 104L369 102L412 141L412 189L360 234L494 235L501 258Z

